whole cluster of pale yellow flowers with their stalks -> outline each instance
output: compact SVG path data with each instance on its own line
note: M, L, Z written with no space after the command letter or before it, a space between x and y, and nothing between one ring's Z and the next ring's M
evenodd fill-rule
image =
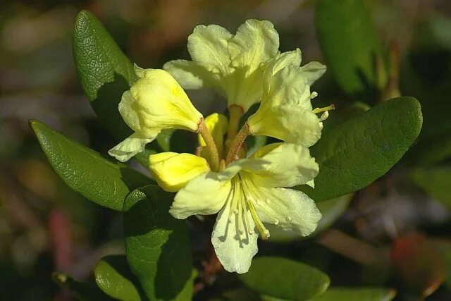
M193 61L169 61L165 70L136 67L139 77L123 94L119 111L135 133L109 151L120 161L142 152L161 130L199 133L195 154L149 156L149 169L163 190L177 192L176 219L218 214L211 242L227 271L245 273L257 253L257 238L272 223L305 236L321 213L297 185L314 186L319 166L308 147L321 137L329 106L313 109L311 85L326 66L301 64L299 49L280 53L268 21L247 20L232 35L218 25L199 25L188 38ZM228 117L204 118L184 90L214 87L226 97ZM252 104L259 109L238 130ZM318 116L318 113L322 113ZM247 156L249 135L280 140Z

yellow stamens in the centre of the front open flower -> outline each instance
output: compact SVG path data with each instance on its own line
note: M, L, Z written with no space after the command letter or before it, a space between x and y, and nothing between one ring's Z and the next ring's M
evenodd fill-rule
M249 234L252 234L254 231L250 228L247 214L247 210L249 210L261 238L266 240L269 237L269 231L261 222L257 210L254 207L254 202L259 202L259 197L261 197L261 193L250 180L247 180L240 174L235 176L233 178L233 198L228 219L231 221L232 214L235 214L238 219L238 231L242 233L244 231L243 228L247 228Z

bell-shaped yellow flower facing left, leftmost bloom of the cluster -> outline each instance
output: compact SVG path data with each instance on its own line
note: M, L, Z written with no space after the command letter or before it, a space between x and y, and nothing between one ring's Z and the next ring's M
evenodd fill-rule
M123 120L135 133L109 150L119 161L128 161L142 152L161 130L178 128L197 132L203 118L165 70L136 67L135 71L139 79L124 92L119 103Z

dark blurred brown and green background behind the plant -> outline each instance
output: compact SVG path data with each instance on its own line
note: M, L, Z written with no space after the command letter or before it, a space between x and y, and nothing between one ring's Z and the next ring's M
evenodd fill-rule
M394 41L399 49L402 94L423 106L421 137L401 166L342 202L333 230L314 241L280 237L262 245L261 253L278 248L326 271L333 285L396 288L396 300L416 290L428 300L451 300L451 173L428 173L450 163L451 2L366 4L384 46ZM53 271L82 281L92 278L105 254L123 252L121 214L66 187L27 123L37 118L99 152L115 144L98 123L73 63L71 35L80 10L92 11L131 61L161 68L189 58L187 36L195 25L215 23L235 32L248 18L271 20L281 51L299 47L303 61L324 62L314 6L314 0L1 1L0 300L68 300L51 281ZM349 99L328 73L314 90L338 110ZM203 113L225 107L209 91L191 95ZM435 146L436 153L425 152ZM411 161L433 167L407 173ZM448 182L429 191L436 180Z

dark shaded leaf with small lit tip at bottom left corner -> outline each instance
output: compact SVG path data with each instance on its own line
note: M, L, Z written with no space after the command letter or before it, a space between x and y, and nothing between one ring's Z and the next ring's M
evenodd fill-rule
M81 283L73 280L66 274L54 273L51 278L62 288L68 288L80 301L110 301L111 297L102 293L92 283Z

